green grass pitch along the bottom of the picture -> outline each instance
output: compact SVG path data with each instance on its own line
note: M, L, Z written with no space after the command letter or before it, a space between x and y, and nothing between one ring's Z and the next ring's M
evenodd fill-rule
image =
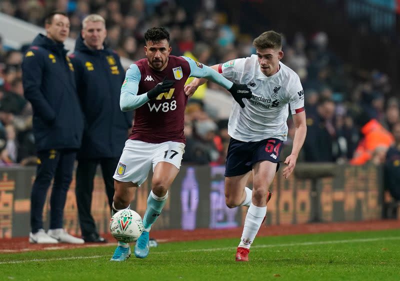
M114 246L0 254L0 280L400 280L400 229L160 243L110 262Z

